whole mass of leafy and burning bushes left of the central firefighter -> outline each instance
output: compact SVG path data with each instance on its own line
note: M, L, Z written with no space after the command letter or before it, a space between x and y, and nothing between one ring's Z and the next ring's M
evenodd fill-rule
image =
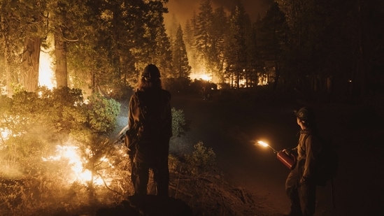
M85 103L68 87L1 97L0 213L73 215L122 199L126 150L106 138L119 112L113 99L94 94Z

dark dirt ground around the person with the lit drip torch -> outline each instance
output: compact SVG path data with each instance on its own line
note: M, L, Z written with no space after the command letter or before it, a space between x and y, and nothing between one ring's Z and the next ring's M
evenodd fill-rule
M219 169L208 178L211 196L194 194L185 203L197 203L191 197L202 196L207 206L221 211L214 215L286 213L289 201L284 185L289 170L271 149L259 147L255 141L267 141L276 150L294 147L299 127L292 112L301 106L312 106L320 132L332 139L339 152L336 178L325 187L318 187L315 215L383 215L383 110L342 103L306 103L249 92L226 92L213 95L209 101L194 94L173 94L172 106L182 109L191 125L186 136L171 143L171 151L187 152L194 143L202 141L213 148ZM233 194L226 196L231 191ZM231 196L233 199L228 199ZM225 208L215 208L217 203L223 206L223 202L212 199L230 203Z

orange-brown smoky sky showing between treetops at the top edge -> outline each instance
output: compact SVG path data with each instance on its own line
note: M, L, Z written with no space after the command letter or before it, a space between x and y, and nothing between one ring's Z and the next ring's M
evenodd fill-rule
M257 16L264 16L266 8L268 8L270 0L240 0L243 3L246 13L250 19L255 22ZM175 15L176 19L183 25L186 20L192 18L193 13L199 13L199 5L201 0L169 0L166 7L169 14L166 17ZM211 0L213 8L222 6L229 13L235 5L236 0Z

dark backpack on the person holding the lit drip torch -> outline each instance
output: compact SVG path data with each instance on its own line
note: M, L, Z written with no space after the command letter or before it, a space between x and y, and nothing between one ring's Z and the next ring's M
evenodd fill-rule
M339 165L339 155L336 152L336 145L332 141L320 139L322 149L318 155L318 166L315 173L315 183L318 186L325 186L328 180L336 176Z

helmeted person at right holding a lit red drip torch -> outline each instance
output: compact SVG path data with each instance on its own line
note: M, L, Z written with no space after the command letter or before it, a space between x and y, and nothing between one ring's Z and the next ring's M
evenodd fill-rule
M288 216L310 216L315 213L316 184L314 180L316 159L321 150L320 141L315 131L313 110L307 107L294 111L299 124L299 143L292 150L297 156L294 166L285 181L285 192L290 199Z

